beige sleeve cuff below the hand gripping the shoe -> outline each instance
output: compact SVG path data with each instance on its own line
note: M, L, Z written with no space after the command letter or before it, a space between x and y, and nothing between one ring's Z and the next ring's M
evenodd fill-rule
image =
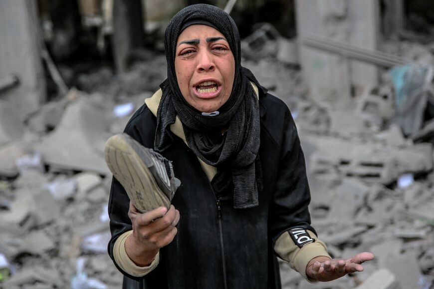
M134 277L143 277L154 270L160 262L160 252L155 256L154 261L147 267L137 266L127 255L125 250L125 241L133 231L128 231L122 234L115 242L113 248L113 257L116 264L126 273Z

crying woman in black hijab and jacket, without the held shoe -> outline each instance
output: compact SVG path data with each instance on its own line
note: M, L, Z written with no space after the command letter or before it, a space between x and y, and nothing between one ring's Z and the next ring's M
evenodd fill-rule
M139 214L114 179L109 253L124 288L280 288L276 255L310 282L362 271L372 254L331 259L311 227L294 121L241 66L232 18L192 5L165 37L168 78L125 132L182 186L169 210Z

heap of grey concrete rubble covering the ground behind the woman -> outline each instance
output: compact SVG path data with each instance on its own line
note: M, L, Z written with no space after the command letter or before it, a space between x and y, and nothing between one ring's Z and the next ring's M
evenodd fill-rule
M351 12L345 1L328 2L334 8L324 12L333 17ZM321 9L328 6L321 4ZM262 25L242 41L243 66L282 98L297 123L312 194L312 224L320 239L336 258L372 251L376 260L364 272L318 284L308 283L281 263L283 289L430 288L430 69L420 79L415 72L419 66L409 64L405 70L397 68L396 77L383 75L380 84L362 87L358 82L354 98L330 105L319 100L333 99L334 94L311 91L293 65L299 63L296 41ZM428 59L424 53L420 50L418 55ZM311 68L327 64L324 57L315 58ZM321 69L315 73L318 81L324 78ZM403 71L414 73L405 77ZM86 92L71 89L62 99L28 114L24 122L0 102L0 256L9 266L0 287L121 288L122 275L107 254L112 176L103 147L110 135L122 132L134 110L165 77L165 57L155 54L146 62L137 61L122 76L109 68L77 75L77 86ZM327 77L320 82L328 82ZM415 83L422 83L424 93L416 93ZM346 94L336 97L342 100ZM422 113L422 107L428 110ZM2 268L0 264L3 276Z

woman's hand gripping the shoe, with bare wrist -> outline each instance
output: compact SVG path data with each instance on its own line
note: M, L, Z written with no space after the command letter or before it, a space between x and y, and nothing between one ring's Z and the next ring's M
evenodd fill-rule
M128 257L139 267L149 266L160 248L170 244L178 229L179 211L173 205L141 214L130 202L128 216L133 224L133 233L125 242Z

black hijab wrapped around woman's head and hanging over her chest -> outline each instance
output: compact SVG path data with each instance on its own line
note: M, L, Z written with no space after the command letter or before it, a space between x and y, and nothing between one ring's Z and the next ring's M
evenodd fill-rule
M235 59L232 92L216 116L202 115L184 99L178 86L176 44L181 32L192 24L206 24L220 31ZM217 198L233 197L234 208L257 206L258 189L262 189L258 157L259 104L250 81L262 92L266 90L250 70L241 66L240 37L235 22L216 6L188 6L179 11L167 26L165 51L168 78L160 85L163 95L157 110L155 149L161 152L172 144L170 125L178 115L189 147L205 163L217 167L217 174L211 181ZM224 134L222 129L227 129Z

